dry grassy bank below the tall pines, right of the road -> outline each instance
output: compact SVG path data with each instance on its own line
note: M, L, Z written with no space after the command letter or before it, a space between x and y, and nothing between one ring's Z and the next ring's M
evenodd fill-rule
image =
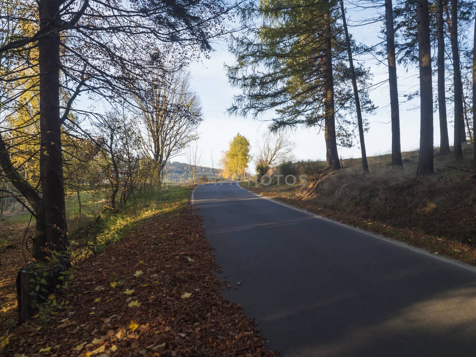
M476 265L476 176L473 146L464 145L465 159L435 149L435 175L416 178L418 151L402 153L403 169L392 168L391 156L368 157L369 174L361 159L341 159L343 169L328 171L325 162L297 162L306 174L301 186L253 181L240 186L262 196L304 208L382 236L403 241ZM272 172L271 172L272 173ZM279 173L279 172L276 172ZM266 179L265 179L266 180ZM267 182L265 182L267 183Z

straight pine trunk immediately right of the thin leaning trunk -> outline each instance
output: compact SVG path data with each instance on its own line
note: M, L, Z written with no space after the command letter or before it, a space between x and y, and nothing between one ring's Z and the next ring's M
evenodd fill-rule
M392 165L403 166L400 149L400 113L398 109L397 60L395 58L395 30L392 0L385 0L385 25L387 38L388 84L390 87L390 112L392 119Z

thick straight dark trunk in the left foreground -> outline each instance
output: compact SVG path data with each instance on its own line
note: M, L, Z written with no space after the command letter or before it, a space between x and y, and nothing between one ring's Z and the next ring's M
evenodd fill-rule
M40 29L50 34L38 40L40 65L40 167L45 208L47 250L68 260L60 119L60 2L40 0Z

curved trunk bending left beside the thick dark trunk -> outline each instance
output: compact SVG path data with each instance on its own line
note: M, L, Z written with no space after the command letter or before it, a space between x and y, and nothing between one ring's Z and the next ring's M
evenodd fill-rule
M35 214L36 228L35 237L33 238L33 258L36 261L46 261L46 223L43 200L38 192L28 181L20 176L18 170L15 169L11 162L7 147L0 133L0 167L2 168L6 178L11 184L20 191L22 196L30 203Z

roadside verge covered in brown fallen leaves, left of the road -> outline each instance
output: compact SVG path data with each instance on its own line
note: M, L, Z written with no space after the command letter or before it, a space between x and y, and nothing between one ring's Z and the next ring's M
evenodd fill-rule
M275 356L255 322L221 297L231 287L215 275L190 193L171 189L122 238L75 265L24 325L14 326L15 309L3 314L0 356Z

